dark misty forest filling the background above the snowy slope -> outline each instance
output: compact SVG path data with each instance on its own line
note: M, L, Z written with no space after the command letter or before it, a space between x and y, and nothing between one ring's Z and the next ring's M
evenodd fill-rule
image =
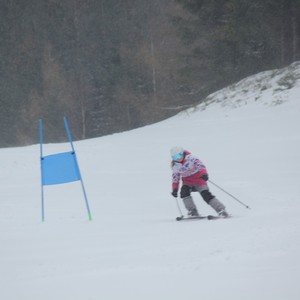
M129 130L300 59L300 0L0 0L0 147Z

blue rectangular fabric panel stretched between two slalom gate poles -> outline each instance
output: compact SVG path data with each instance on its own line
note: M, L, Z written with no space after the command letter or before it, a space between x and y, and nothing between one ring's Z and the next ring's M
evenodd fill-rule
M42 159L43 185L62 184L81 180L74 152L48 155Z

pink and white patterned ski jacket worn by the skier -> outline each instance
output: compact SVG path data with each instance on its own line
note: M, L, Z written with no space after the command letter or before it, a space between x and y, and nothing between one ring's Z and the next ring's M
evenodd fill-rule
M206 181L201 178L202 175L207 174L205 165L188 151L184 151L184 154L182 162L172 162L172 189L178 190L180 178L182 185L207 185Z

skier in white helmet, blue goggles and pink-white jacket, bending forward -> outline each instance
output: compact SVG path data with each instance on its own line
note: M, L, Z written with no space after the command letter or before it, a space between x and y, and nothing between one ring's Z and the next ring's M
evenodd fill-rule
M172 157L172 196L178 197L180 179L182 187L180 197L190 216L199 216L197 207L191 196L191 192L199 192L203 200L209 204L220 217L227 218L229 215L225 206L209 191L207 186L208 173L204 164L190 152L182 147L173 147Z

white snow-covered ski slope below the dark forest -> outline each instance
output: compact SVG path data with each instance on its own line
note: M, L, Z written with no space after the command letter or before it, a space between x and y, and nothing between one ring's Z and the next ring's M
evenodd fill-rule
M207 107L76 142L92 221L75 182L45 187L42 223L39 145L1 149L0 299L298 300L299 72L264 72ZM176 222L174 145L251 209L211 186L234 217ZM45 154L65 150L44 145Z

